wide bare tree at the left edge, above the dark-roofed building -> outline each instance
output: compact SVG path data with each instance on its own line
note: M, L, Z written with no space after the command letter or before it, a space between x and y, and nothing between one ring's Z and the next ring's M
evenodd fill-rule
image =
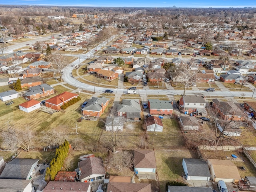
M2 132L1 137L3 148L11 150L22 149L28 152L34 142L34 134L30 128L8 128Z

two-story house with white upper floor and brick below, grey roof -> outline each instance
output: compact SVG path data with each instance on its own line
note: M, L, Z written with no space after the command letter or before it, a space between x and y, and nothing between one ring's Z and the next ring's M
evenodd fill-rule
M180 98L179 109L184 114L190 114L197 112L198 114L206 113L205 106L206 101L202 96L197 95L185 95Z

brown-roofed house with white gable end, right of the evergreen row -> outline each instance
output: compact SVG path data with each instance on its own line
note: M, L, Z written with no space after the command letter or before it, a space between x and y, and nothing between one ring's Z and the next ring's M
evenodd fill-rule
M80 175L78 174L80 182L104 180L106 175L102 158L99 157L90 157L78 162L78 169L81 171Z

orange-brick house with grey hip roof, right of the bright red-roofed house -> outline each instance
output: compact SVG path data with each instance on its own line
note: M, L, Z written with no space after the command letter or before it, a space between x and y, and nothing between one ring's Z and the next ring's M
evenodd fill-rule
M105 97L92 97L87 102L86 106L82 108L82 115L100 117L108 106L109 99Z

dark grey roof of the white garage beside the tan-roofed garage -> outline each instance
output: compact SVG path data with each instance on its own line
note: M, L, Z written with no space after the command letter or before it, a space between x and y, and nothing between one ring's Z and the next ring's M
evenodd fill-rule
M211 177L208 164L202 159L183 158L186 162L189 176Z

